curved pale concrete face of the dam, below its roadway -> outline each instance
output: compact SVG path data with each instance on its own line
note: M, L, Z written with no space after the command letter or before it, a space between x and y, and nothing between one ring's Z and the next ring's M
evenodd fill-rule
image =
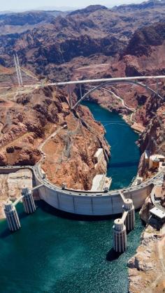
M40 184L38 182L38 184ZM152 190L152 183L132 192L125 192L126 199L132 199L136 209L141 208L146 197ZM109 192L108 194L72 194L66 190L52 190L51 187L43 186L39 190L43 201L54 208L78 215L115 215L122 213L123 201L120 194Z

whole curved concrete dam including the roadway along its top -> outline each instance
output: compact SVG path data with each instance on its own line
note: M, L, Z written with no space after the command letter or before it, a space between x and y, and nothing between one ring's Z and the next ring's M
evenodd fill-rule
M141 185L107 193L62 190L61 187L53 185L48 179L44 178L39 164L35 166L1 166L0 172L9 173L26 168L34 173L36 185L41 185L38 189L41 199L54 208L79 215L115 215L122 213L121 191L126 199L131 198L133 200L136 209L141 208L152 187L157 183L157 180L162 178L165 172L165 169L162 169L153 178L141 183Z

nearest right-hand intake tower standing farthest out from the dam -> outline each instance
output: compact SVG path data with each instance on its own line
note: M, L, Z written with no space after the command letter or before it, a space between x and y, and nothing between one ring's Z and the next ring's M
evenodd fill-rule
M113 226L113 249L115 252L127 250L127 232L122 219L116 219Z

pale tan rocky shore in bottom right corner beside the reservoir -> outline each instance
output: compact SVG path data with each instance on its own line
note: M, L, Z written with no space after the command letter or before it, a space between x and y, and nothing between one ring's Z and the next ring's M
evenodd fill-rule
M129 266L129 292L164 292L165 226L156 231L150 225L141 236L141 245L131 257Z

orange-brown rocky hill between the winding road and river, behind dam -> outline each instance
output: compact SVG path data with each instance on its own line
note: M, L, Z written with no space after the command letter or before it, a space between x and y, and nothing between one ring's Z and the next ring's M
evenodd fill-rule
M103 127L93 120L88 108L80 106L75 114L66 116L68 129L59 131L45 144L42 169L56 185L66 183L69 188L90 190L94 176L106 173L109 148ZM98 148L103 148L105 159L104 164L95 168L94 154Z

